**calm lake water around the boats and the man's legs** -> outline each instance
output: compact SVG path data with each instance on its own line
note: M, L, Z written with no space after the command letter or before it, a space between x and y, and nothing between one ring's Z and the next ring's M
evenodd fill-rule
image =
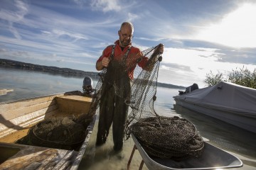
M63 77L0 67L0 89L14 89L7 95L0 96L0 102L57 94L65 91L82 91L82 81L83 78ZM96 83L97 81L95 80L95 85ZM210 144L220 147L242 160L244 166L238 168L238 170L256 169L256 134L176 106L173 96L177 94L178 89L158 87L157 98L154 103L156 113L166 116L179 115L190 120L191 123L196 125L199 134L205 137ZM132 139L124 141L122 152L117 153L113 152L112 149L112 134L108 137L105 145L95 147L96 133L97 121L79 169L127 169L127 162L134 147ZM130 169L139 169L141 161L142 157L136 150ZM145 165L143 169L147 169Z

